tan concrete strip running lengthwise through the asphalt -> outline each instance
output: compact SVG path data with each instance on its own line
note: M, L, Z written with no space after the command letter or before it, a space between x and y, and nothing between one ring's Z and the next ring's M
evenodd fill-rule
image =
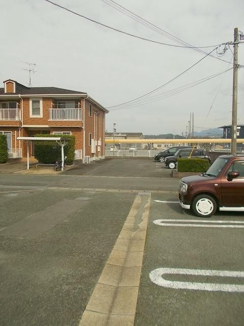
M143 195L135 198L79 326L134 324L150 206L150 194Z

